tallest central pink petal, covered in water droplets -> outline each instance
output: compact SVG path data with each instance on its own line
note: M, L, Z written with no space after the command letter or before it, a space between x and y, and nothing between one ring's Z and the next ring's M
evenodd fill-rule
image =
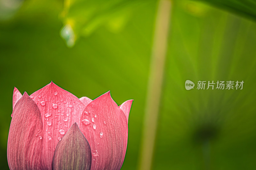
M52 169L52 158L57 143L74 122L80 122L85 106L76 96L53 82L30 96L34 97L43 121L41 168Z

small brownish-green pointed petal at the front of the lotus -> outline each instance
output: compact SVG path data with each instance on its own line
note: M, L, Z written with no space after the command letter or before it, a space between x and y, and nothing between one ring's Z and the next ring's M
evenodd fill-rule
M92 153L88 141L74 123L57 144L52 160L52 170L90 170Z

